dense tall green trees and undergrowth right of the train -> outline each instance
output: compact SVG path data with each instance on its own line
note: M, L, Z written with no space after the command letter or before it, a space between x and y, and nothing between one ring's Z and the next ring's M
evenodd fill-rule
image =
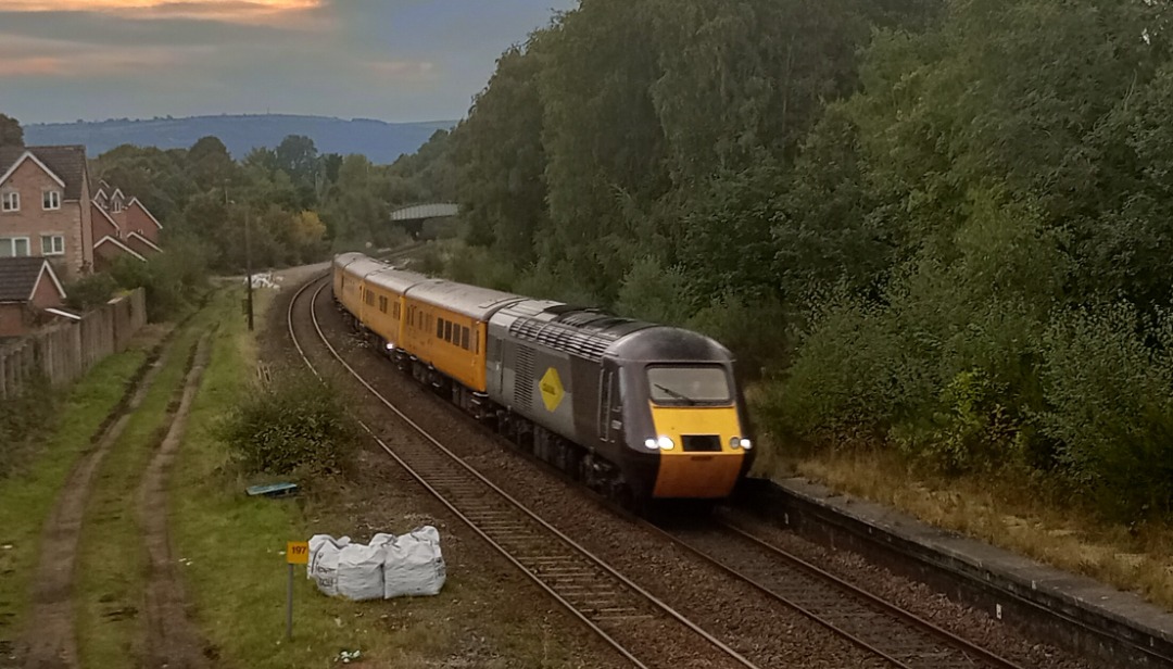
M714 333L788 445L1167 514L1168 18L583 0L501 56L413 174L455 184L450 271Z

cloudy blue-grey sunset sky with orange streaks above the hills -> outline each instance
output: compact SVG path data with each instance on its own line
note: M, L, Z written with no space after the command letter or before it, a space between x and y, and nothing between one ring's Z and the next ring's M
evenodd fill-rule
M462 119L576 0L0 0L0 113Z

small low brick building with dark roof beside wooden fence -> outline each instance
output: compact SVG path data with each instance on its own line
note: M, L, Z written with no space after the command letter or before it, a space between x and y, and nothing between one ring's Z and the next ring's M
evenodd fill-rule
M27 334L66 311L66 291L43 257L0 258L0 338Z

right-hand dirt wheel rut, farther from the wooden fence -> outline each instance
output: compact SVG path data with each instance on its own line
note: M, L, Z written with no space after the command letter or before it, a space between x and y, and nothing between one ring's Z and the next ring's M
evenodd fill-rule
M201 338L195 350L195 363L188 371L183 397L175 412L163 442L147 466L138 488L138 506L143 523L143 540L149 556L147 570L147 667L199 669L209 665L206 648L198 629L188 616L183 581L171 556L167 528L167 477L178 453L187 427L188 414L209 358L209 334Z

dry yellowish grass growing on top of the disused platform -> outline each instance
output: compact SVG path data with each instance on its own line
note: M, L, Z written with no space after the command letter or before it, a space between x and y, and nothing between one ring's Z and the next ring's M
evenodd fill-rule
M897 454L860 451L774 457L759 468L796 473L1173 610L1173 528L1105 523L1024 475L935 477Z

